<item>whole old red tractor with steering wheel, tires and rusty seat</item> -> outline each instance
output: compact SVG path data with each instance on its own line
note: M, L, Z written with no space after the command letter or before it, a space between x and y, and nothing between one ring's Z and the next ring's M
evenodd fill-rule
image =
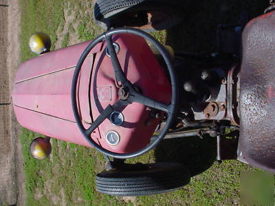
M124 163L163 139L210 135L219 161L234 157L275 172L274 8L220 26L217 53L191 54L168 52L142 31L178 23L182 1L111 2L95 5L95 19L107 31L93 41L49 52L47 36L33 36L33 50L35 38L44 40L42 55L17 72L12 100L19 123L102 152L107 166L96 184L105 194L140 196L186 185L190 172L179 163ZM228 130L239 134L230 154L221 147ZM32 155L48 155L48 143L34 140Z

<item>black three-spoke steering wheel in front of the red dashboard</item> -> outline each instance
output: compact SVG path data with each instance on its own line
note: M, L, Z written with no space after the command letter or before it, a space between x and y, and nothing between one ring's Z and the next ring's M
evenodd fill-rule
M155 100L151 100L150 98L146 98L142 93L137 91L133 84L127 80L127 78L124 76L124 73L122 71L122 68L120 66L120 62L118 61L118 56L115 52L115 48L113 47L113 41L112 41L112 35L114 34L122 34L122 33L128 33L128 34L135 34L137 36L141 36L145 38L147 41L151 42L155 47L159 50L160 54L164 58L166 65L168 67L168 71L170 74L170 81L171 81L171 87L172 87L172 98L170 105L162 104L160 102L157 102ZM109 50L109 55L111 56L111 62L113 65L113 71L115 73L115 78L118 82L120 82L121 86L118 91L118 96L120 97L120 100L118 102L115 102L112 106L109 104L107 108L100 113L100 115L96 118L96 120L89 126L89 128L85 129L80 116L78 114L78 107L76 103L76 85L78 82L78 76L80 73L80 69L83 65L83 62L91 49L93 49L100 41L106 40L107 41L107 48ZM74 117L76 119L76 124L78 125L78 128L80 132L83 134L85 139L96 148L98 151L102 152L104 155L108 155L109 157L114 157L117 159L129 159L133 157L137 157L140 155L145 154L146 152L150 151L151 149L155 148L157 144L159 144L160 141L164 138L166 135L168 129L170 128L171 124L173 123L173 119L176 115L176 108L177 108L177 101L178 101L178 91L177 91L177 80L175 76L175 71L173 68L173 63L170 58L170 54L166 51L166 49L155 39L153 36L147 34L146 32L142 32L141 30L133 29L133 28L117 28L114 30L109 30L100 36L98 36L94 41L91 41L89 45L84 50L83 54L80 56L80 59L78 60L78 64L76 65L76 69L74 71L74 76L72 79L72 109L74 112ZM162 132L157 136L155 141L153 143L148 144L141 150L138 150L136 152L132 153L126 153L126 154L120 154L116 152L111 152L109 150L106 150L102 148L102 146L98 145L96 141L94 141L91 138L91 133L104 121L104 119L107 119L113 111L120 111L120 108L122 106L126 106L128 104L131 104L133 102L138 102L140 104L144 104L146 106L149 106L151 108L159 109L160 111L164 111L167 113L168 118L166 120L166 125L164 126L164 129Z

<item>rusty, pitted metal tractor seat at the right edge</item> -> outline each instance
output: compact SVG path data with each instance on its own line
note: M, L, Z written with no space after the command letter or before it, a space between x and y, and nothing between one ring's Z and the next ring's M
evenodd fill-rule
M243 32L239 149L248 163L275 172L275 12Z

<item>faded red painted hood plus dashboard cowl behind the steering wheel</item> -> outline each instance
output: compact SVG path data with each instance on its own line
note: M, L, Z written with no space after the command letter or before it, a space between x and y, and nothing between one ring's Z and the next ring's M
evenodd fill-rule
M168 104L170 83L146 41L131 34L115 36L113 41L120 45L118 59L126 77L144 95ZM88 44L49 52L19 67L12 100L22 126L49 137L89 146L78 130L71 104L72 76ZM104 43L94 47L80 72L78 108L87 127L108 104L113 105L118 100L118 87L105 47ZM133 152L146 146L159 120L151 119L148 108L142 104L129 104L120 112L124 115L124 124L114 126L106 119L92 138L114 152ZM120 135L120 143L116 146L107 144L105 139L110 130Z

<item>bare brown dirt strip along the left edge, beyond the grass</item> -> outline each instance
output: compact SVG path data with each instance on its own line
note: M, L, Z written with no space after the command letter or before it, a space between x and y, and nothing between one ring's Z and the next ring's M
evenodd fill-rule
M0 205L25 205L20 126L11 91L20 62L19 0L0 0Z

